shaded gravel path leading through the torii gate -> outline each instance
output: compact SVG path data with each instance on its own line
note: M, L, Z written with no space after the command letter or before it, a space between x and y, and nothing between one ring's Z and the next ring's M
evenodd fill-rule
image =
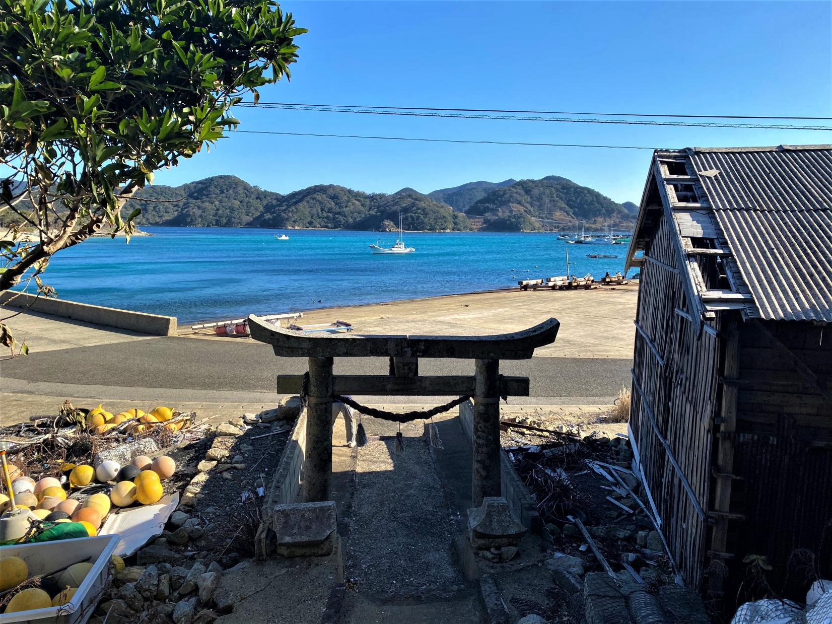
M402 425L401 455L394 454L395 423L364 417L364 427L370 442L359 449L349 518L350 585L377 598L453 593L464 584L451 557L458 521L422 439L423 423Z

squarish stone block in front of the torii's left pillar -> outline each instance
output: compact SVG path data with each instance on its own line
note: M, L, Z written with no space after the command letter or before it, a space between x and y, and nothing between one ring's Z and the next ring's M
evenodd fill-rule
M272 528L278 553L293 552L305 554L329 554L332 543L324 543L336 531L338 514L334 501L324 503L294 503L275 505L272 513ZM307 547L304 551L304 547Z

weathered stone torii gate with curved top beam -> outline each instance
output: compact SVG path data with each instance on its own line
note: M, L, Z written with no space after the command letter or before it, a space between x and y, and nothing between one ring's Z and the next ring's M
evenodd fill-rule
M560 324L548 319L529 329L492 336L328 334L312 336L251 315L251 337L271 344L275 355L309 359L306 388L305 499L332 499L332 403L334 395L473 396L475 507L501 496L500 406L504 396L528 396L527 377L499 374L501 359L530 359L554 342ZM333 374L336 357L389 357L388 375ZM473 375L420 375L419 358L473 359ZM305 375L278 375L278 394L299 394Z

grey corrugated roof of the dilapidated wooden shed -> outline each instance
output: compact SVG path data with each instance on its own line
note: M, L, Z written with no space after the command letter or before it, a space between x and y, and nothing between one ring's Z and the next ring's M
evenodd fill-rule
M832 322L832 146L693 148L760 318Z

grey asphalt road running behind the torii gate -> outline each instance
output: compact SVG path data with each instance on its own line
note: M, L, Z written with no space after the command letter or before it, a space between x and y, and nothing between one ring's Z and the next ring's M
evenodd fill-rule
M0 362L2 379L46 384L270 393L275 375L302 373L305 359L277 358L270 346L178 337L32 353ZM505 360L503 374L527 375L532 397L611 397L628 384L628 359ZM422 374L473 374L471 360L425 359ZM335 360L336 373L387 374L382 358ZM20 381L13 385L21 390Z

